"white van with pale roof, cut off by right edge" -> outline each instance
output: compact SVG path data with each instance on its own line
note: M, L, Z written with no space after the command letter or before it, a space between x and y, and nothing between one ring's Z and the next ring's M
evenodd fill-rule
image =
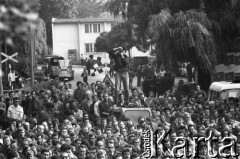
M208 100L228 100L228 98L239 98L240 96L240 82L213 82L209 87Z

